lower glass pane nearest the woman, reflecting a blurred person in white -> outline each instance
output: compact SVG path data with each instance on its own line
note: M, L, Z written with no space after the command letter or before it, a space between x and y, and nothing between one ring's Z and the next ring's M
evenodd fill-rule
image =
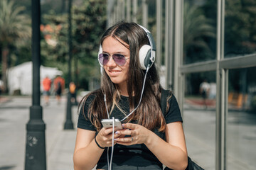
M183 128L188 156L204 169L215 169L215 77L215 72L186 74Z

